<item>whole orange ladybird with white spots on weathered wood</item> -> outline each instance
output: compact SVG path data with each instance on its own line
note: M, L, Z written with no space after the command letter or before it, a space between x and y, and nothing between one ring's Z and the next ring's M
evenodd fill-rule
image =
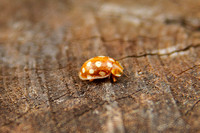
M116 77L123 74L123 67L113 58L107 56L97 56L87 60L81 67L79 77L82 80L103 79L112 77L116 82Z

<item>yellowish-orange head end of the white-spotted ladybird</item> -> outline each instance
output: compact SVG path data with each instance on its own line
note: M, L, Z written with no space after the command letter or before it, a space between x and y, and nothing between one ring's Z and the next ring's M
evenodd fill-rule
M124 68L121 66L121 64L118 61L115 61L115 63L113 63L111 73L116 77L120 77L123 74L123 69Z

